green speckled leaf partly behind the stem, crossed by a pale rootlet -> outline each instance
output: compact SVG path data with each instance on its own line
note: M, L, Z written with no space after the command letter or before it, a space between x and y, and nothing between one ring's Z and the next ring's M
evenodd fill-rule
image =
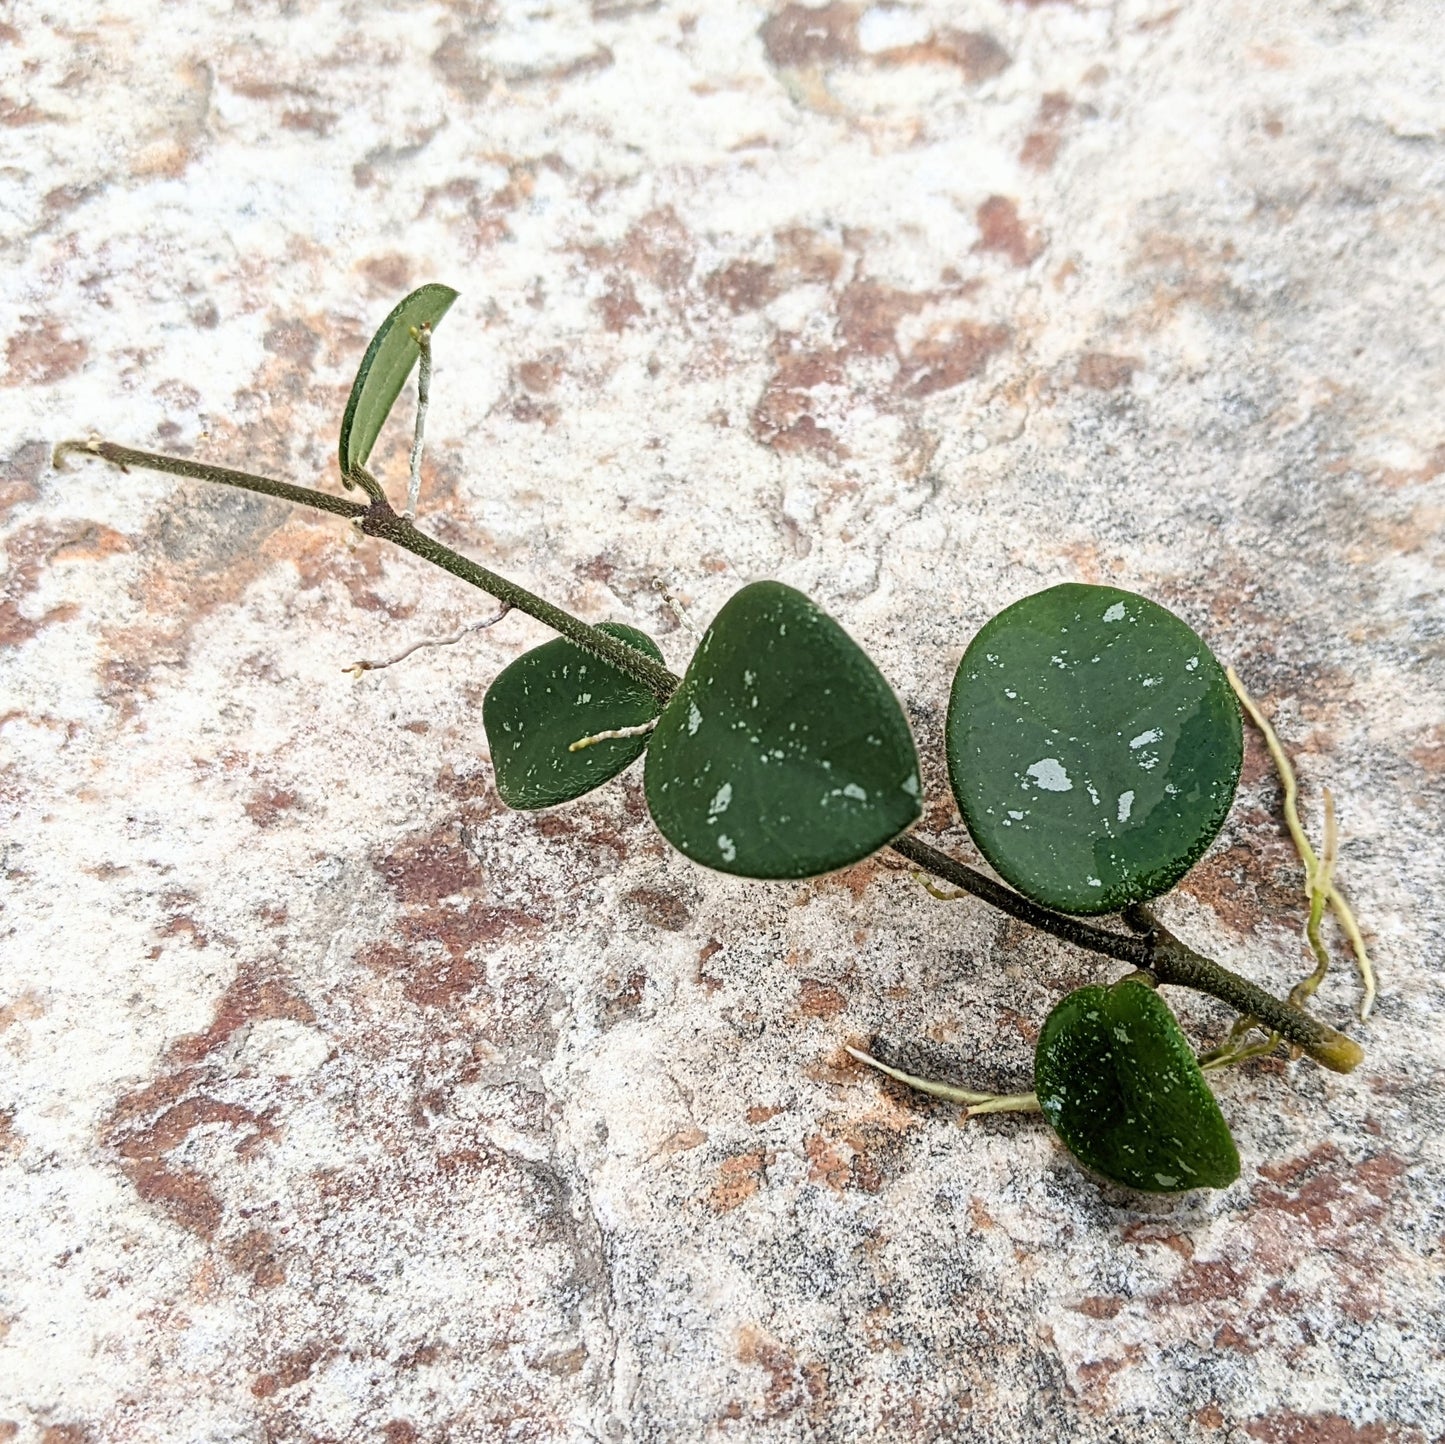
M597 630L662 661L657 643L636 627L603 622ZM600 788L642 756L647 737L608 737L581 752L568 747L656 715L657 700L646 687L575 642L558 637L525 652L501 671L481 704L501 801L530 811Z

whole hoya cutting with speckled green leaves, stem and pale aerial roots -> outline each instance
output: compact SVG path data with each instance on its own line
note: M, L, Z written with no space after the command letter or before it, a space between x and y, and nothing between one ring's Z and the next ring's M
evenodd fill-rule
M366 351L338 445L341 480L364 502L100 439L64 442L56 464L94 455L318 507L497 598L501 613L477 626L516 609L552 627L558 637L512 662L483 704L497 795L512 808L565 805L640 760L653 822L704 867L806 879L890 848L941 896L971 896L1126 964L1118 981L1071 992L1043 1020L1032 1093L929 1081L850 1049L970 1113L1040 1113L1085 1168L1114 1184L1179 1192L1238 1177L1211 1071L1280 1045L1337 1073L1361 1061L1357 1044L1305 1007L1328 966L1327 911L1354 948L1363 1013L1373 992L1332 877L1332 812L1327 807L1316 854L1273 731L1183 620L1130 591L1065 584L1014 601L972 637L948 700L948 776L997 876L970 867L913 831L923 796L907 715L863 649L802 593L777 581L734 593L678 676L646 633L621 622L588 624L418 528L432 332L455 298L441 285L412 292ZM413 370L410 487L397 512L367 465ZM1228 815L1243 760L1241 702L1280 769L1306 874L1316 967L1287 999L1204 957L1149 911ZM1230 1005L1238 1022L1228 1038L1196 1052L1160 992L1169 986Z

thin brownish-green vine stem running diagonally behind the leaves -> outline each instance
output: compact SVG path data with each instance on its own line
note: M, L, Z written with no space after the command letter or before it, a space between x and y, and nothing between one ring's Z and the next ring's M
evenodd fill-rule
M273 477L256 476L250 471L234 471L228 467L212 467L202 461L191 461L185 457L168 457L155 451L137 451L133 447L121 447L111 441L62 441L53 451L52 464L56 470L65 470L65 460L71 455L98 457L101 461L118 467L121 471L139 467L146 471L160 471L168 476L191 477L198 481L214 481L220 486L240 487L244 491L256 491L260 496L273 496L283 502L295 502L301 506L311 506L334 516L344 516L353 522L367 536L394 542L405 551L429 561L442 571L451 572L462 581L471 583L488 596L517 611L525 611L545 626L552 627L561 636L585 648L588 652L610 662L618 671L626 672L643 687L646 687L660 702L666 702L681 685L681 678L644 656L633 650L624 642L610 637L605 632L598 632L561 607L543 601L525 587L499 577L478 562L454 552L432 536L419 532L405 516L399 516L381 494L380 487L368 476L371 486L367 486L370 504L363 506L348 502L345 497L318 491L312 487L293 486L289 481L277 481ZM357 480L357 478L353 478ZM373 491L373 487L376 490ZM1110 932L1105 928L1095 928L1081 922L1078 918L1052 912L1038 903L1022 898L1019 893L985 877L983 873L964 863L955 861L945 853L929 847L928 843L905 834L890 844L893 851L906 857L916 867L932 873L944 882L971 893L975 898L1007 912L1010 916L1027 922L1030 927L1049 932L1075 947L1101 953L1105 957L1118 958L1121 963L1131 963L1134 967L1149 971L1159 983L1170 983L1179 987L1191 987L1201 993L1208 993L1228 1003L1240 1013L1257 1018L1261 1023L1277 1032L1285 1041L1295 1044L1308 1052L1316 1062L1335 1073L1350 1073L1364 1058L1364 1051L1344 1033L1337 1032L1327 1023L1319 1022L1309 1013L1290 1006L1282 999L1266 993L1264 989L1231 973L1218 963L1195 953L1188 944L1179 941L1172 932L1160 927L1153 918L1143 915L1134 918L1134 924L1144 929L1143 937L1126 937ZM1142 914L1142 909L1139 909Z

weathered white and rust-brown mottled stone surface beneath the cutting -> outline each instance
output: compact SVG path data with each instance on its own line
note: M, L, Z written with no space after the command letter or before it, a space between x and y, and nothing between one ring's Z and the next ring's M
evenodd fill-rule
M1442 36L1431 0L0 7L0 1440L1445 1435ZM1338 798L1366 1067L1222 1078L1244 1174L1179 1201L959 1129L842 1045L1026 1087L1108 967L884 859L702 872L636 773L509 814L480 702L539 627L354 682L488 603L46 470L94 429L335 486L426 279L462 291L426 525L675 666L655 578L699 620L805 588L961 854L939 724L993 611L1101 580L1201 627ZM1165 911L1283 989L1277 804L1251 743Z

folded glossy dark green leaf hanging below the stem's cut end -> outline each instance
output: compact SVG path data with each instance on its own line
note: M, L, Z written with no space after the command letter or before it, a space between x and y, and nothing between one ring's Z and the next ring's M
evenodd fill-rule
M1081 987L1039 1033L1043 1116L1085 1168L1126 1188L1225 1188L1240 1155L1189 1041L1147 984Z

